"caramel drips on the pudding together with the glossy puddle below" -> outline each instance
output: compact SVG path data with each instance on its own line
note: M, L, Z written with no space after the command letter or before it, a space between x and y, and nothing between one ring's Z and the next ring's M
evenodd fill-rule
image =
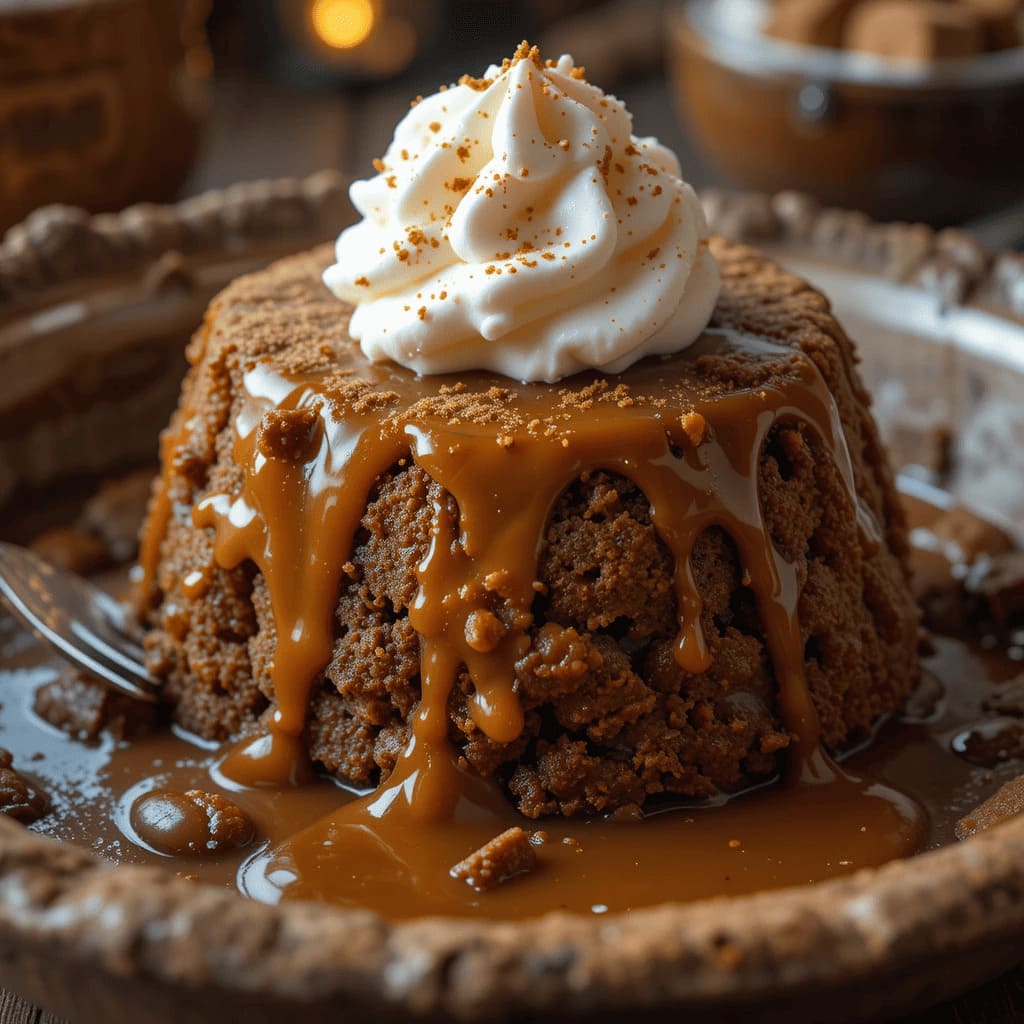
M771 364L769 383L723 390L701 379L700 355L737 349ZM355 373L380 400L353 408L346 387ZM441 497L410 608L421 642L422 696L407 750L377 792L332 808L298 833L286 830L283 842L253 856L239 873L243 891L271 902L369 905L389 916L480 907L524 916L810 882L921 846L927 826L913 800L840 769L821 750L804 678L798 570L774 547L762 515L758 467L765 440L774 426L800 422L830 455L862 544L880 543L853 485L835 401L814 364L788 348L716 331L685 356L633 367L628 389L616 390L614 379L595 381L595 400L581 403L566 401L557 385L509 386L486 375L432 379L427 387L357 353L348 364L339 355L322 374L285 377L262 364L249 370L234 421L233 459L244 484L237 494L208 495L193 509L197 526L215 530L221 566L251 560L262 572L278 636L269 729L217 763L214 777L223 787L241 794L308 787L307 705L331 655L344 565L367 501L381 476L406 459L440 485ZM499 399L501 422L418 406L425 393L460 388ZM266 443L268 418L283 414L304 417L299 442ZM184 433L165 434L165 471ZM757 597L792 737L785 783L719 807L655 808L642 826L546 822L534 837L537 878L481 897L447 869L521 819L494 783L460 764L449 741L449 694L465 667L475 687L476 725L499 742L519 735L514 665L529 647L545 529L563 489L594 470L621 473L650 502L654 527L675 560L675 655L687 672L707 670L714 657L701 630L691 553L710 527L732 538ZM165 480L163 493L169 489ZM150 580L171 514L166 498L158 499L141 556ZM201 581L185 581L185 589L201 593ZM677 881L667 896L670 851Z

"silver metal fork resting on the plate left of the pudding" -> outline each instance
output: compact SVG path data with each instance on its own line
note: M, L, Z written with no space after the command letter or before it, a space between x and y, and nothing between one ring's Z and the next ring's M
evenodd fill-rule
M99 588L26 548L0 543L0 600L73 665L136 700L158 699L142 648L125 629L124 609Z

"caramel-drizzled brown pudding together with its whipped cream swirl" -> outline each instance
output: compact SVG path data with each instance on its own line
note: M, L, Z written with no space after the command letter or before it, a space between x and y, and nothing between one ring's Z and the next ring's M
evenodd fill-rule
M827 301L525 46L378 170L333 265L239 280L190 345L137 597L175 719L250 737L236 780L313 764L421 817L824 770L918 679Z

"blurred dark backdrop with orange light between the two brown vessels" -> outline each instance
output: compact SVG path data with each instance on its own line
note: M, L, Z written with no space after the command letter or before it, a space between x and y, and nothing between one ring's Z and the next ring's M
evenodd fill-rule
M710 180L665 85L664 13L657 0L216 0L213 117L225 130L188 186L251 175L254 162L271 175L367 176L411 99L482 73L526 38L548 56L571 51L641 132L680 146L686 173Z

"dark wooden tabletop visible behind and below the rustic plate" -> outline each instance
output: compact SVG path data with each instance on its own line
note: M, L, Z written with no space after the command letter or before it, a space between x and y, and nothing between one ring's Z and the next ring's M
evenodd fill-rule
M427 86L429 88L429 86ZM720 184L675 116L664 83L652 79L616 88L643 134L657 135L679 154L687 180ZM357 97L310 95L262 81L219 84L203 157L186 186L194 194L256 177L304 175L325 167L352 176L372 173L397 118L408 109L410 87L390 87ZM1019 222L1019 224L1018 224ZM990 218L984 230L1001 244L1024 209ZM1024 1021L1024 969L976 989L904 1024L1012 1024ZM57 1018L0 992L0 1024L60 1024Z

